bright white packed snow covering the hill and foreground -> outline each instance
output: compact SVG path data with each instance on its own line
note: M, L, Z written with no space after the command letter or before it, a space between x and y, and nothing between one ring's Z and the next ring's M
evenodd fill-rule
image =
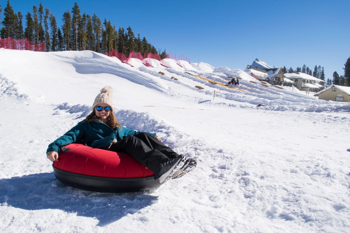
M92 51L0 49L1 232L350 231L349 103L240 69L152 66ZM230 77L240 85L225 86ZM46 148L91 112L105 85L121 124L157 133L197 168L138 193L58 182Z

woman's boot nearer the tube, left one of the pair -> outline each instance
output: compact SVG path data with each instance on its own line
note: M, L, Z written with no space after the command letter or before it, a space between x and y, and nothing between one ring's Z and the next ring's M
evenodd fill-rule
M173 174L184 166L186 159L186 156L180 155L174 159L163 160L159 167L159 182L162 184L171 179Z

